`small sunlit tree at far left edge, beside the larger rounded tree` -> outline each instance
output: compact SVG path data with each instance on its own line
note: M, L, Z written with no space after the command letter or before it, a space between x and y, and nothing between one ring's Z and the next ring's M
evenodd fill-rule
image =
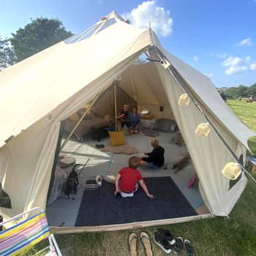
M0 37L0 70L14 64L15 61L15 53L9 39Z

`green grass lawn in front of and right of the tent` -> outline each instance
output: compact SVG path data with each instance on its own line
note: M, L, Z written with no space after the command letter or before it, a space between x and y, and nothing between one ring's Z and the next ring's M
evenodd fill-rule
M256 104L230 100L227 105L242 121L256 131ZM216 217L197 222L168 225L175 236L189 239L195 246L196 255L256 255L256 187L248 184L229 219ZM155 228L142 229L151 238ZM127 237L129 231L105 233L81 233L56 236L64 255L123 256L129 255ZM134 230L140 232L140 230ZM154 255L165 255L154 243ZM40 244L42 246L42 244ZM37 246L34 250L38 250ZM143 246L140 244L140 253ZM181 255L186 255L184 252Z

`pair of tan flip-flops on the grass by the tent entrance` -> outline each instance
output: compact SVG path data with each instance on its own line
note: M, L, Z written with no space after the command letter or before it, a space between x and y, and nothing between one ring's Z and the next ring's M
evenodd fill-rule
M140 241L143 244L146 256L154 256L151 241L146 232L140 232ZM129 255L137 256L138 252L138 236L136 233L130 233L128 237Z

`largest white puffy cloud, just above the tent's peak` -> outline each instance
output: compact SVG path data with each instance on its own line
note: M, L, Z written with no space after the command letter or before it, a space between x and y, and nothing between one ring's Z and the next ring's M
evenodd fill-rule
M173 19L170 18L170 11L157 6L154 0L143 1L138 7L122 16L129 19L133 26L140 28L148 28L151 23L151 28L162 37L169 36L173 31Z

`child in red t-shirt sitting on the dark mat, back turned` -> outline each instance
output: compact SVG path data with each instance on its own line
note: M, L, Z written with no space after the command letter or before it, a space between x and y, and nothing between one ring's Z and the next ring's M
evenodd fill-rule
M148 192L148 188L143 181L140 171L136 170L139 165L140 159L138 157L130 157L129 167L123 167L119 170L116 176L115 195L120 192L122 197L133 197L134 192L138 190L140 184L140 187L142 187L148 197L154 197Z

